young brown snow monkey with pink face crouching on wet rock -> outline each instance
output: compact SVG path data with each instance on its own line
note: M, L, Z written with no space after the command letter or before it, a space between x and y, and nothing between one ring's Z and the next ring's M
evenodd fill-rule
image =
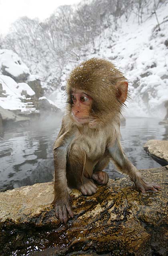
M54 204L63 223L74 214L68 186L83 195L96 193L96 184L106 185L104 168L112 160L128 174L142 193L160 186L142 180L124 154L120 143L120 111L127 98L128 81L108 60L92 58L76 66L67 79L68 104L54 143Z

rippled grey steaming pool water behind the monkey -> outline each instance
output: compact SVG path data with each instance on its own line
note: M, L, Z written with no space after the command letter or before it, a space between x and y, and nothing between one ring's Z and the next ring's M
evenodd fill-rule
M168 127L158 125L159 121L153 118L128 118L126 125L121 126L123 148L138 169L160 166L143 150L147 140L168 139ZM59 129L60 126L54 129L15 128L4 132L4 140L0 140L0 189L52 180L52 146ZM110 178L122 176L111 163L107 172Z

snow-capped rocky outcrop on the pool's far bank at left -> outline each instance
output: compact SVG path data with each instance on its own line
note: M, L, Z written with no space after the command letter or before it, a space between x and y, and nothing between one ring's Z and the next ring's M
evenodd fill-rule
M33 89L34 90L33 90ZM39 76L30 74L29 68L12 50L0 50L0 107L17 112L38 113L39 107L56 109L51 100L43 96Z

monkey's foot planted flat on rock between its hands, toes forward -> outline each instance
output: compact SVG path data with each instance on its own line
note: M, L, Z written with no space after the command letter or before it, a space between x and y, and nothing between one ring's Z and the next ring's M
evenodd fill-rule
M96 193L97 186L94 182L83 176L83 184L78 187L84 196L91 196Z

